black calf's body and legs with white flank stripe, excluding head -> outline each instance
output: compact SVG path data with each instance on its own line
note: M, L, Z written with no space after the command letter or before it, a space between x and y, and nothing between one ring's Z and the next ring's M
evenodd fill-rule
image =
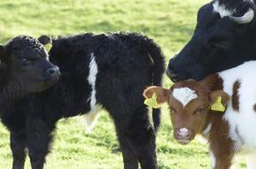
M3 119L11 133L13 168L23 168L26 148L32 169L44 168L55 123L93 114L97 107L113 118L125 168L138 168L138 162L144 169L156 168L155 133L143 89L161 83L165 66L160 48L138 34L89 33L54 39L49 56L60 67L60 81L23 99L13 116ZM160 110L153 113L158 127Z

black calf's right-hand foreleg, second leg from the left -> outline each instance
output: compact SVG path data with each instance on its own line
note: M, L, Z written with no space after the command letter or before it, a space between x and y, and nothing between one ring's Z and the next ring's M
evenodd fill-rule
M32 169L43 169L45 157L49 153L52 131L47 123L40 119L30 119L26 122L27 148Z

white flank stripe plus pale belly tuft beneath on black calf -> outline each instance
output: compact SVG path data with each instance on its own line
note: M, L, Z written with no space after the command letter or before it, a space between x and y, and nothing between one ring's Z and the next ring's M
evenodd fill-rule
M90 54L90 65L89 65L89 76L87 78L90 87L91 93L88 99L90 101L90 112L84 115L84 121L86 126L86 132L91 132L93 127L95 127L96 119L98 116L98 111L101 106L96 104L96 76L98 73L98 66L96 64L95 55L93 53Z

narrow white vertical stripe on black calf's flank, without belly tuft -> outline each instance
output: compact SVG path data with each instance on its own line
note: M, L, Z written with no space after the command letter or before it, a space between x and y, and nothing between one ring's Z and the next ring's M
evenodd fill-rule
M90 65L89 65L89 76L87 78L90 86L90 109L93 110L96 107L96 76L98 73L98 66L96 64L95 55L93 53L90 54Z

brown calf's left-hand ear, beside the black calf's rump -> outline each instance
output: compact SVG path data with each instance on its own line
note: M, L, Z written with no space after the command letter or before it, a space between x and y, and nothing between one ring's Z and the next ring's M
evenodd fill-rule
M145 99L150 99L154 93L156 95L157 104L163 104L168 101L171 91L166 88L153 86L146 88L143 92L143 96Z

